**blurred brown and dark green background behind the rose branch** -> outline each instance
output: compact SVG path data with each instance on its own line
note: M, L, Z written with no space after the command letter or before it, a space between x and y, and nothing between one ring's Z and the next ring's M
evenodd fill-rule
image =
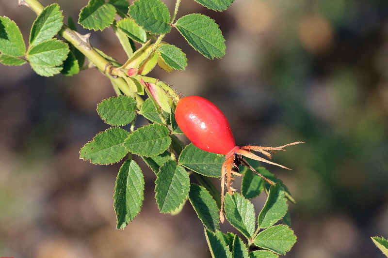
M165 2L172 11L175 3ZM65 20L77 20L87 1L58 3ZM238 145L306 141L275 154L292 171L266 166L297 201L290 210L298 240L286 257L383 258L370 237L388 237L388 2L235 0L213 12L183 0L178 17L194 12L220 25L225 57L207 60L172 30L165 41L187 54L188 67L171 74L157 67L150 76L214 102ZM28 41L30 9L1 0L0 15ZM92 32L91 42L125 61L111 30ZM0 256L210 258L189 204L176 216L159 213L155 175L140 159L142 211L115 229L120 164L79 159L81 147L109 128L96 112L114 95L107 78L96 69L47 78L29 65L1 64L0 78ZM253 200L257 213L264 201ZM237 232L227 223L222 230Z

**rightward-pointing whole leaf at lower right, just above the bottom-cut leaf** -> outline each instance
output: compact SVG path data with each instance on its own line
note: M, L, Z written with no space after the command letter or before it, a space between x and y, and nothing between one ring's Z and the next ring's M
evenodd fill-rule
M276 225L261 231L253 243L257 246L271 250L279 255L286 255L296 242L296 236L291 228L286 225Z

